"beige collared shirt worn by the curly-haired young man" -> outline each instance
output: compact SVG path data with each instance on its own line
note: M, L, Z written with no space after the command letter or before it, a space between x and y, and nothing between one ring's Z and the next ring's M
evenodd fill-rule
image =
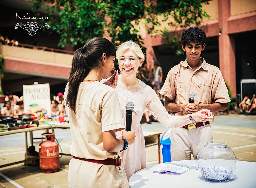
M176 104L189 101L189 93L194 92L194 103L212 104L230 102L228 89L220 69L205 62L195 70L188 65L187 59L174 66L168 72L160 94L167 96ZM214 113L212 113L214 115ZM183 111L172 113L175 116L186 115ZM212 119L213 120L213 119Z

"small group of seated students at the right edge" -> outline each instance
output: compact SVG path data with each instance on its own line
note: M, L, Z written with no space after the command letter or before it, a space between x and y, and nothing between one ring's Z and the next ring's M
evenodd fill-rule
M240 112L238 114L244 115L254 115L256 114L256 98L255 94L251 97L251 99L246 94L243 98L243 101L239 103Z

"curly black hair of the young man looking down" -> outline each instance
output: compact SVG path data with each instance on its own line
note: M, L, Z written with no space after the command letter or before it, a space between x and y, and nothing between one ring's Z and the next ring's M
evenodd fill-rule
M186 31L182 34L181 42L184 47L188 43L201 43L203 47L203 44L206 44L205 32L198 27L190 27L189 29L186 29Z

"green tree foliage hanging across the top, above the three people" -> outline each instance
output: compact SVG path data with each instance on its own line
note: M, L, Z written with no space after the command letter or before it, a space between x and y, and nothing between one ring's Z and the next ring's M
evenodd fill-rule
M148 34L163 36L167 43L174 44L180 36L170 36L169 30L161 27L168 22L172 27L187 27L200 24L203 17L209 15L202 10L200 0L31 0L33 11L47 10L48 24L61 39L59 46L84 44L93 37L102 37L106 30L112 42L122 43L128 40L142 42L141 28ZM208 4L208 1L204 1ZM161 16L161 19L159 18ZM112 19L107 22L106 16ZM135 24L131 21L135 20ZM141 22L141 20L145 20ZM105 29L105 30L104 30ZM177 51L177 53L181 53Z

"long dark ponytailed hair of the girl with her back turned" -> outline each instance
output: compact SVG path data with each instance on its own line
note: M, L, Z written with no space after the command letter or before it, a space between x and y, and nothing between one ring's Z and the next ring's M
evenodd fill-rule
M76 99L80 83L89 72L102 66L102 54L115 56L115 46L103 37L90 39L85 46L77 49L72 59L70 76L68 79L68 94L65 103L76 113Z

